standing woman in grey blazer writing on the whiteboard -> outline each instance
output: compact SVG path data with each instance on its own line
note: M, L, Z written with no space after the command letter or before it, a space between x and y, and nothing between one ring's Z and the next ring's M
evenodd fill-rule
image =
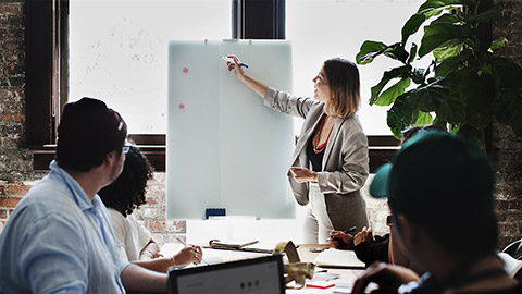
M235 56L237 78L285 114L304 119L288 177L299 205L308 205L304 243L326 243L333 230L368 225L361 188L369 173L368 140L357 119L359 71L345 59L328 59L314 83L314 99L295 97L248 76Z

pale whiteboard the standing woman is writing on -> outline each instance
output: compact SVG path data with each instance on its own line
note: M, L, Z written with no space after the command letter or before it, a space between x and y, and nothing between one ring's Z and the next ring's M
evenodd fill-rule
M293 119L228 72L219 56L236 54L245 71L291 93L291 46L282 40L169 44L166 194L169 219L227 216L294 218L287 180Z

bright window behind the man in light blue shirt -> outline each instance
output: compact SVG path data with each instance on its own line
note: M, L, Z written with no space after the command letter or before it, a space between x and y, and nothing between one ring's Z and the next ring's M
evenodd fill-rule
M169 40L231 38L231 12L229 0L71 1L69 100L103 99L129 134L165 134Z

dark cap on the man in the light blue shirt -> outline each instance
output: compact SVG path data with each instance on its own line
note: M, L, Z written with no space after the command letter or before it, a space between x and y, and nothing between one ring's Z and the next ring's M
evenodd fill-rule
M101 164L100 158L122 146L126 136L127 125L120 113L101 100L84 97L63 109L57 159L60 166L74 162L74 166L97 167Z

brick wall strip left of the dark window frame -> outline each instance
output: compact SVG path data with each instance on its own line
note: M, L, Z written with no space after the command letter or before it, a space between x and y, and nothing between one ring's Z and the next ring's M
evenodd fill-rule
M25 47L23 1L0 2L0 228L27 193L32 154L24 139Z

